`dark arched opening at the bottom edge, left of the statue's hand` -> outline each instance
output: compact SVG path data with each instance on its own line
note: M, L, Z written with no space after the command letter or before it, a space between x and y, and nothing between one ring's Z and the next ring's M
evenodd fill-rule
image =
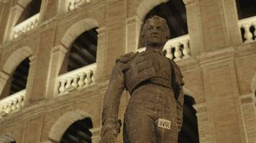
M91 143L92 133L89 129L93 128L91 118L85 118L74 122L63 134L60 143Z

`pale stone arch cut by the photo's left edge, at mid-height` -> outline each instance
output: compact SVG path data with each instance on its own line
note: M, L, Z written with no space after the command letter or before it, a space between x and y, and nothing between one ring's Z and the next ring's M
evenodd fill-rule
M13 74L17 66L26 59L27 57L32 56L33 52L29 46L22 46L22 48L14 51L4 63L3 68L0 71L0 93L3 91L6 81Z

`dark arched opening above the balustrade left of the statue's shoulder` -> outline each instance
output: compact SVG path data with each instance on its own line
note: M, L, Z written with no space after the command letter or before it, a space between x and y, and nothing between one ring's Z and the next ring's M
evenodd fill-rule
M60 74L73 71L83 66L96 62L96 51L98 44L98 32L96 28L84 31L71 45L66 54Z

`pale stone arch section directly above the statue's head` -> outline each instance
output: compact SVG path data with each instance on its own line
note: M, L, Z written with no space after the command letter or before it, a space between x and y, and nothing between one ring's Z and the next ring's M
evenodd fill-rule
M167 1L168 0L143 0L137 7L136 14L141 20L143 20L151 9Z

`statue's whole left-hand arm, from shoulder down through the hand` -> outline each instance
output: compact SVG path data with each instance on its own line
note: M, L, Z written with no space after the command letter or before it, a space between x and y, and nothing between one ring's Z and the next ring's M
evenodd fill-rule
M120 132L121 122L118 121L119 104L124 91L124 65L116 62L104 97L102 112L101 142L115 142Z

